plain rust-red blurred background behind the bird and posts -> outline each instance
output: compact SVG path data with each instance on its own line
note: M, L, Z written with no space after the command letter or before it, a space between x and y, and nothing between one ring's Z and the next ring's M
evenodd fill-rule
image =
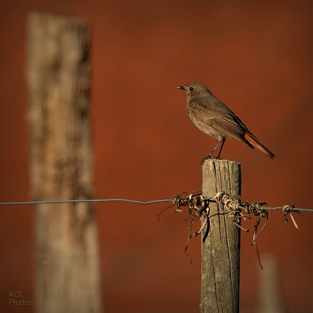
M241 162L242 200L312 208L312 3L290 1L37 1L2 3L0 201L29 201L26 21L31 11L88 20L94 197L168 199L202 186L200 161L217 141L186 115L175 86L207 86L275 155L227 139ZM97 203L105 312L198 312L200 238L167 203ZM0 306L33 300L33 206L2 206ZM282 312L312 312L312 213L281 211L257 240ZM249 233L241 236L241 312L259 312L268 286ZM199 224L195 224L194 230ZM200 227L200 226L199 226ZM265 266L266 265L266 266ZM273 275L268 275L273 273ZM263 276L262 276L263 275ZM269 279L269 278L268 278ZM263 286L263 287L262 287Z

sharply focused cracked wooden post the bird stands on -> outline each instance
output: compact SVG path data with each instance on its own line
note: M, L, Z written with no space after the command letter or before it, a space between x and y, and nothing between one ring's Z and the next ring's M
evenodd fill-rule
M213 196L221 190L241 194L240 163L208 159L202 172L203 195ZM218 205L210 204L210 215L215 213ZM201 313L239 312L239 252L240 229L225 215L210 218L209 231L202 232Z

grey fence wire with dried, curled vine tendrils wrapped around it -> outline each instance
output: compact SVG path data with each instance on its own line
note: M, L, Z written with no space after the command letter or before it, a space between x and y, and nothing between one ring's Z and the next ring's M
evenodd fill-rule
M187 245L185 248L185 254L187 254L186 251L187 251L191 237L192 236L193 237L198 236L205 229L205 226L207 225L208 219L212 218L213 216L225 215L227 218L229 218L233 222L234 227L236 226L236 227L244 230L245 232L248 232L249 229L243 228L241 225L239 225L239 223L237 223L235 221L235 219L236 218L244 218L245 219L246 217L251 218L252 216L258 216L258 220L256 221L256 223L254 223L253 241L250 243L250 245L253 244L255 249L256 249L257 257L258 257L258 261L259 261L259 265L260 265L261 269L263 269L263 267L262 267L262 264L260 261L259 251L258 251L258 248L257 248L255 241L267 223L267 220L268 220L267 210L279 210L279 209L281 209L284 213L284 218L286 220L285 225L288 222L286 216L290 215L292 222L294 223L294 225L297 229L299 229L299 227L298 227L297 223L295 222L295 218L293 217L293 213L298 213L298 214L302 215L299 211L313 212L313 209L296 208L295 203L293 203L292 205L284 205L282 207L265 207L265 205L267 204L266 202L249 202L249 201L246 201L245 203L241 203L241 197L240 196L238 196L238 195L230 196L224 191L219 191L212 197L203 196L201 191L202 191L202 189L199 188L199 189L197 189L197 190L195 190L189 194L187 194L187 192L183 192L182 194L186 193L187 197L183 197L182 195L175 194L172 196L171 199L152 200L152 201L147 201L147 202L116 198L116 199L0 202L0 205L77 203L77 202L112 202L112 201L124 201L124 202L131 202L131 203L146 205L146 204L159 203L159 202L172 202L173 203L172 206L176 205L176 211L175 212L177 212L177 211L182 212L181 207L187 206L188 207L187 219L189 218L189 216L191 216L191 224L190 224L190 227L188 230L188 240L187 240ZM222 213L215 213L215 214L209 216L210 208L209 208L208 203L210 203L210 202L211 203L217 203L221 207ZM166 209L168 209L172 206L169 206L169 207L165 208L164 210L162 210L157 215L158 219L160 219L160 214L163 211L165 211ZM241 210L244 210L246 212L246 215L241 213ZM304 216L304 215L302 215L302 216ZM195 222L194 218L197 218L197 219L202 218L202 225L198 231L196 231L195 233L192 233L191 228L192 228L193 223ZM261 218L265 218L265 223L264 223L263 227L261 228L261 230L259 231L259 233L257 234L257 230L258 230L258 226L259 226L259 222L260 222ZM189 254L187 254L187 255L190 257L190 259L192 261L191 256Z

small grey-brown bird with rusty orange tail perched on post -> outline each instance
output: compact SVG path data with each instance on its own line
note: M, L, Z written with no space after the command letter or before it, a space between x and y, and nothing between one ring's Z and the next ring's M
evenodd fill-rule
M222 142L221 149L216 158L220 157L226 137L236 139L252 149L256 147L269 158L275 158L275 155L251 134L237 115L229 110L223 102L214 97L205 86L199 83L190 83L186 86L176 86L176 88L186 92L187 115L192 123L195 124L200 131L218 139L218 144L211 153L201 161L201 165L204 160L211 157L213 151Z

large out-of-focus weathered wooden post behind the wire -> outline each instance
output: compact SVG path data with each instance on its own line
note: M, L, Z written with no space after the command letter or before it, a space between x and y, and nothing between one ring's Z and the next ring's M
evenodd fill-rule
M28 17L31 179L35 200L92 197L89 25L75 18ZM100 312L100 266L91 203L36 206L38 313Z

